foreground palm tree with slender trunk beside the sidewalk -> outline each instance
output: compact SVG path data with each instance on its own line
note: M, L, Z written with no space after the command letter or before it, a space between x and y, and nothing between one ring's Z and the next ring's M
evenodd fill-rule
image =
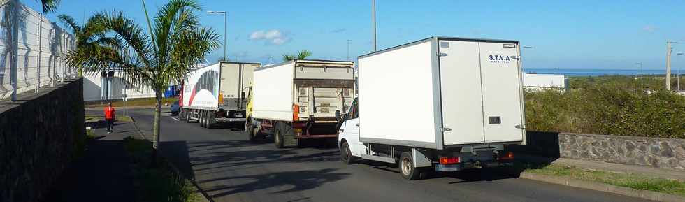
M199 4L194 0L171 0L159 8L154 24L148 18L149 33L123 13L100 13L102 17L98 23L118 44L92 45L89 54L70 52L67 56L71 66L83 66L86 73L116 68L128 82L152 87L156 102L152 130L153 165L157 159L164 89L170 82L185 78L208 52L219 48L219 35L213 29L201 26L199 15L195 14L199 10ZM145 13L147 16L147 9Z

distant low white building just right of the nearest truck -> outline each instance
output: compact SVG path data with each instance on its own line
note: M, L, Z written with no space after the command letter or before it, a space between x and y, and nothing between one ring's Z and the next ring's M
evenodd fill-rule
M532 91L542 89L568 89L568 78L560 74L524 73L524 88Z

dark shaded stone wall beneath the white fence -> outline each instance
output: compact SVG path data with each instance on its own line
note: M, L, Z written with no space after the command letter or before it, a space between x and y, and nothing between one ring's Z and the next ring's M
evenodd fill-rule
M41 201L85 143L82 79L0 101L0 201Z

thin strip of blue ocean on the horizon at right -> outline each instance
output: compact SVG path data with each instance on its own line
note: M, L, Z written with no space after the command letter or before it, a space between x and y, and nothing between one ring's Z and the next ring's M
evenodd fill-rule
M665 69L607 69L607 68L524 68L526 73L563 74L568 76L600 76L600 75L665 75ZM671 73L676 74L677 68ZM681 73L685 73L682 70Z

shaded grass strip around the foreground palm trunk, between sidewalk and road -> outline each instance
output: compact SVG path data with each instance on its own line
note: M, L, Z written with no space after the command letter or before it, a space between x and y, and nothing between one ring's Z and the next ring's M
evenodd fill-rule
M132 137L124 138L124 147L133 158L131 169L134 173L138 201L199 201L199 194L193 185L182 178L168 162L159 157L159 166L152 167L152 143Z

